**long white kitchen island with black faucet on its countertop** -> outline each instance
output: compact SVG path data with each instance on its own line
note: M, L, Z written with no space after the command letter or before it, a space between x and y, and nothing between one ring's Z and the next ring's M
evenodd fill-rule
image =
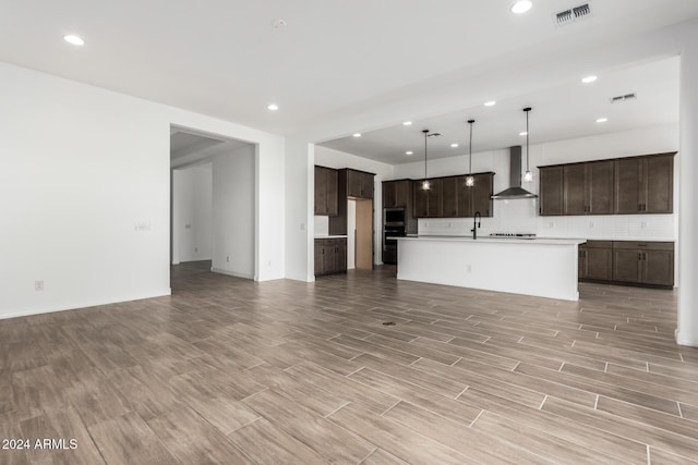
M397 279L578 301L577 238L408 236Z

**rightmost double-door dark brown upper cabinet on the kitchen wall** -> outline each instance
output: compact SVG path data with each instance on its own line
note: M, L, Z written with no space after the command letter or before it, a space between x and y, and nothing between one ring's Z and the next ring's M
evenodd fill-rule
M673 212L674 155L675 152L615 160L614 212Z

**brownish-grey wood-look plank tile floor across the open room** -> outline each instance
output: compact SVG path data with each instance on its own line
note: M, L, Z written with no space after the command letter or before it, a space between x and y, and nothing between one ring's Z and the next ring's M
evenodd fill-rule
M0 439L32 441L0 463L698 463L675 292L581 283L569 303L207 265L173 267L169 297L0 320Z

